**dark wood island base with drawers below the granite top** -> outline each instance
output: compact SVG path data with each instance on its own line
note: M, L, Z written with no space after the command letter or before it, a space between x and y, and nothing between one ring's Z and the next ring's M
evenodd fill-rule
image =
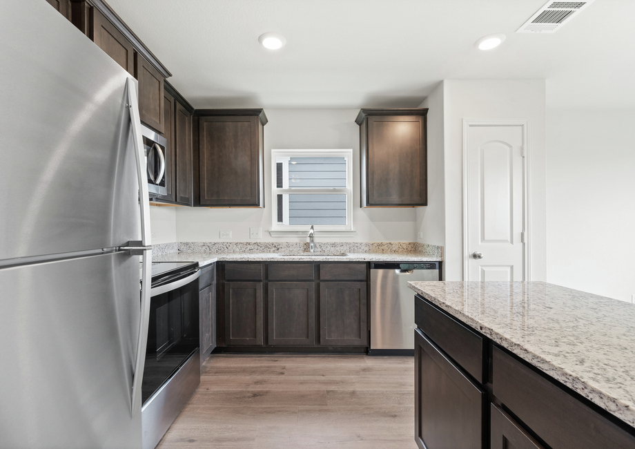
M419 448L635 449L634 428L422 296L415 322Z

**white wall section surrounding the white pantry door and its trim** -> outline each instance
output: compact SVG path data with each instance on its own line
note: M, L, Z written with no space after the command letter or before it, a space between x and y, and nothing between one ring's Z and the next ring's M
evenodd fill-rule
M528 119L530 276L545 280L545 81L452 79L444 81L443 89L445 279L462 279L463 119Z

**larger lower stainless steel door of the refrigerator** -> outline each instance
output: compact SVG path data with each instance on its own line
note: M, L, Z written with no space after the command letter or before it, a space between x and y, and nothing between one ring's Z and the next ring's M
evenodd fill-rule
M0 289L0 447L141 448L139 256L0 269Z

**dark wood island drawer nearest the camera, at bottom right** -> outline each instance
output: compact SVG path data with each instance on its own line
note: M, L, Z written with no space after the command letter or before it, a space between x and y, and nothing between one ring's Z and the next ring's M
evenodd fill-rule
M494 396L552 449L635 448L635 437L496 346L493 359Z

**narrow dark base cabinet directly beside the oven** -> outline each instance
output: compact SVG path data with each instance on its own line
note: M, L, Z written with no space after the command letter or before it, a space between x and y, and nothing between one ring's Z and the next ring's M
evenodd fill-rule
M201 269L199 276L201 365L216 347L216 266Z

